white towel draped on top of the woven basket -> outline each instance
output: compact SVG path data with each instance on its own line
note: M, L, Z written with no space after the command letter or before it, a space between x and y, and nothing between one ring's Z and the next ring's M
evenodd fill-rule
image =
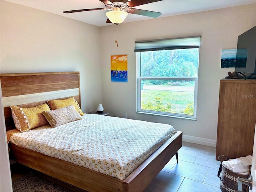
M236 159L230 159L222 162L222 165L227 169L233 171L234 173L240 173L244 175L249 174L248 166L251 164L252 164L251 155L248 155L246 157L239 157Z

